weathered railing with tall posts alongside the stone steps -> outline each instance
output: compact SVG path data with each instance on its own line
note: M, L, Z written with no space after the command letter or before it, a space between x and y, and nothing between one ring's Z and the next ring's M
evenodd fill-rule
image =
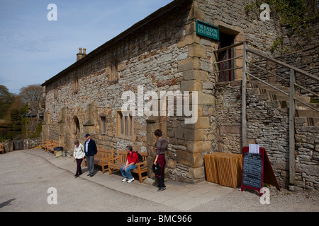
M318 109L315 107L308 105L308 103L303 102L302 100L298 100L296 98L296 87L298 87L301 90L305 90L308 93L311 93L315 97L319 97L318 93L313 92L312 90L309 90L308 88L305 88L303 85L300 85L296 83L296 73L301 74L303 76L306 76L307 78L312 79L313 81L318 82L319 77L314 76L306 71L303 71L301 69L296 68L295 66L291 66L289 64L286 64L285 62L279 61L274 59L273 57L268 57L266 54L259 52L255 49L251 49L247 47L247 42L240 42L237 44L230 45L228 47L224 47L221 49L218 49L214 52L216 59L218 59L217 53L225 51L227 49L233 49L235 47L238 47L240 45L243 45L243 54L237 57L232 57L230 59L226 59L223 61L234 61L235 59L242 58L242 66L233 67L230 69L223 69L222 71L216 70L214 73L220 73L223 71L235 71L238 69L242 69L242 146L247 146L247 118L246 118L246 92L247 92L247 76L250 76L257 81L264 83L265 85L269 85L269 87L272 87L274 90L279 91L280 93L283 93L286 96L289 96L289 183L294 184L295 181L295 125L294 125L294 118L295 118L295 102L301 102L301 104L306 105L310 109L315 110L316 112L319 112ZM247 60L247 54L252 54L254 57L261 57L264 60L272 61L274 64L279 64L280 66L283 66L286 69L290 70L289 79L283 78L282 76L273 73L272 71L268 71L267 69L262 68L261 66L258 66L257 64L253 64L252 62ZM252 59L254 57L250 56ZM218 69L220 67L218 64L223 63L223 61L217 61L214 63ZM235 64L233 64L235 65ZM267 81L262 80L261 78L258 78L257 76L253 75L247 70L247 66L250 68L255 67L256 69L259 69L261 71L264 71L267 74L270 74L272 76L276 76L276 78L279 78L283 81L286 81L289 83L289 93L286 93L284 90L281 90L280 88L277 88L276 86L267 83Z

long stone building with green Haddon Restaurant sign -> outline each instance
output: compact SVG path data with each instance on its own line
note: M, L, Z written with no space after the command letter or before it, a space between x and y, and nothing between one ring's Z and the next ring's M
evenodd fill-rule
M74 64L43 83L46 100L43 137L59 141L70 151L74 139L83 142L86 133L91 133L99 147L113 148L115 153L126 145L133 145L134 150L149 154L151 168L155 157L154 131L162 129L169 141L169 179L189 183L203 181L204 155L215 151L241 153L242 150L242 70L217 76L214 51L246 41L250 47L269 53L281 32L275 19L265 22L248 17L245 6L249 3L175 0L92 52L86 54L79 49ZM218 28L219 40L198 35L198 21L213 25L211 29ZM242 45L235 47L227 57L240 54ZM242 59L233 62L240 66ZM171 91L176 96L174 106L166 99L157 101L161 91ZM198 96L197 120L186 124L189 114L178 114L178 108L180 104L191 105L193 91ZM131 97L123 99L125 92ZM184 102L178 102L179 93ZM129 108L121 111L128 100L135 100L136 111ZM157 104L159 109L165 105L165 114L147 115L149 104L152 110ZM141 109L142 115L138 112ZM174 114L167 114L172 109ZM251 133L255 131L248 129L252 143L265 144ZM318 155L318 144L312 145ZM279 183L287 186L284 173L287 169L281 165L284 160L272 153L269 155L278 163L274 171ZM152 170L148 173L154 177ZM313 187L318 189L318 175L313 180L316 184Z

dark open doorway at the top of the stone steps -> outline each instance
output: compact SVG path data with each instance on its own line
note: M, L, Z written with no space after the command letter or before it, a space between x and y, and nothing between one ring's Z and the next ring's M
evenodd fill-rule
M235 35L228 35L226 33L220 32L219 34L219 43L218 43L218 49L221 49L223 47L228 47L232 44L234 44ZM225 82L225 81L234 81L235 80L235 73L234 70L225 71L228 69L234 68L234 61L231 60L234 56L234 50L233 48L227 49L222 52L218 52L218 61L224 61L219 64L219 71L222 71L219 73L218 76L218 82ZM225 61L227 59L230 59L229 61Z

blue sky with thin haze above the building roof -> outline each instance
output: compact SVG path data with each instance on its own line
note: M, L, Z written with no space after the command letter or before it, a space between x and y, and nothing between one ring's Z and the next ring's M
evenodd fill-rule
M89 54L172 1L0 0L0 85L18 94L42 84L74 64L79 47Z

